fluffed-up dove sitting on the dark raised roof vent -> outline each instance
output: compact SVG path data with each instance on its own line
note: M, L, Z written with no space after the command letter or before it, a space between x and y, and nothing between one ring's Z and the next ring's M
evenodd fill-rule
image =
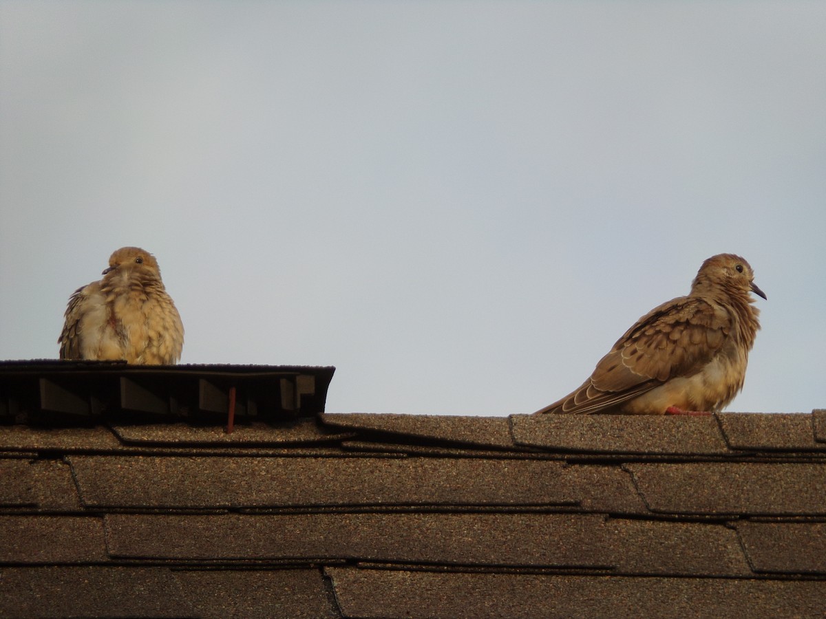
M183 348L183 324L154 256L136 247L112 253L103 279L69 298L60 333L61 359L172 365Z

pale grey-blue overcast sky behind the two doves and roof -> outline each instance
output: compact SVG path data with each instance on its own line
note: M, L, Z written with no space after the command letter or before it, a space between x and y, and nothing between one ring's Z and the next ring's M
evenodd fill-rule
M739 253L729 410L826 408L826 2L0 0L0 358L113 250L183 363L327 409L530 413Z

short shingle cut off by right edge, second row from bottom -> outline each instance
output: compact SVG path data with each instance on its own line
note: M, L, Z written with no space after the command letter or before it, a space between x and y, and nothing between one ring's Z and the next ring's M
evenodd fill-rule
M755 571L826 574L826 522L737 522Z

